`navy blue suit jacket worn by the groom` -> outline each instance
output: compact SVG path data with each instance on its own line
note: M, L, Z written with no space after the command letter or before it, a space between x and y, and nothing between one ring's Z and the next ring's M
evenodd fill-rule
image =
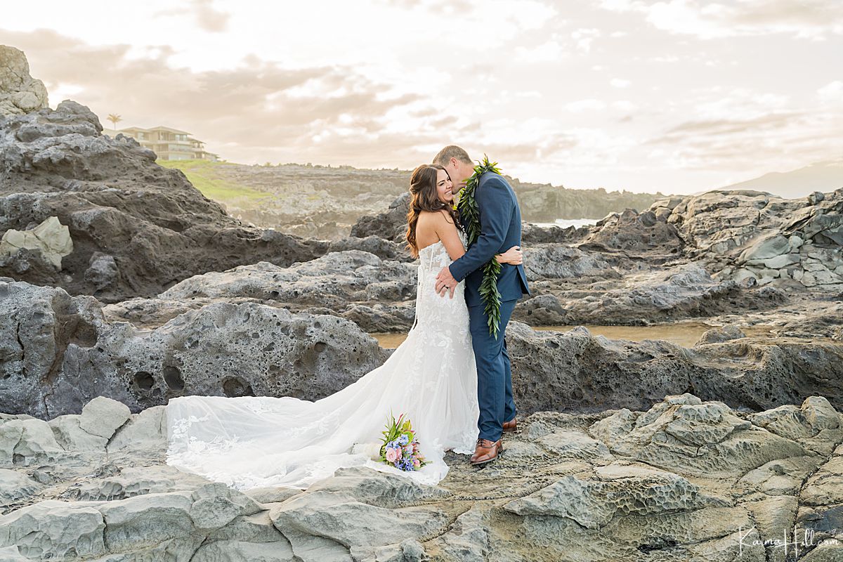
M495 254L521 245L521 210L513 188L501 174L483 174L475 189L475 200L480 212L480 237L448 268L454 279L465 280L465 302L470 307L483 304L480 296L483 265ZM524 266L502 264L497 291L502 301L529 295Z

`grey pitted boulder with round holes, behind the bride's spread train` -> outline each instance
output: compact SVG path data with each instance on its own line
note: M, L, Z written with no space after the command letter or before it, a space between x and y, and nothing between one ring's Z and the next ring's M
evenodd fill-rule
M208 304L150 330L110 323L96 299L61 288L0 281L0 295L0 410L16 414L78 413L97 396L135 412L182 394L319 399L385 357L345 319L254 302ZM127 415L83 413L82 427L110 437Z

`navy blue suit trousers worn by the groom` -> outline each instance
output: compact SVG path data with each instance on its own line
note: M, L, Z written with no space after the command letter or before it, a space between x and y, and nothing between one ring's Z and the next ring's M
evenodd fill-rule
M480 418L477 428L480 438L497 441L503 433L503 423L515 417L513 377L507 353L506 331L518 299L501 302L501 325L497 338L489 335L484 305L469 307L471 346L477 362L477 401Z

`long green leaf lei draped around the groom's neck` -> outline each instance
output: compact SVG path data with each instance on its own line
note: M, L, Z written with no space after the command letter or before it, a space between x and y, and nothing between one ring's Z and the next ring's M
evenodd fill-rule
M489 162L489 157L483 155L483 161L477 161L475 173L465 182L465 187L459 190L459 221L465 227L465 234L468 238L468 245L471 247L480 238L480 211L477 209L475 189L480 183L481 175L486 172L500 174L497 162ZM497 291L497 276L501 273L501 265L497 260L492 259L483 266L483 281L480 284L480 296L484 302L484 311L488 318L489 335L497 340L497 334L501 325L501 293Z

